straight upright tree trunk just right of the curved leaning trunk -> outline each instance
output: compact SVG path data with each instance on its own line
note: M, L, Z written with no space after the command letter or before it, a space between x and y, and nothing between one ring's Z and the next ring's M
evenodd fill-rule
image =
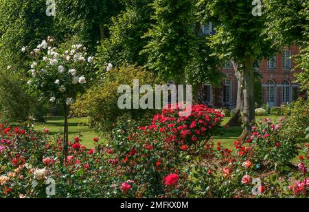
M251 131L255 120L254 105L254 56L247 56L244 61L244 133Z

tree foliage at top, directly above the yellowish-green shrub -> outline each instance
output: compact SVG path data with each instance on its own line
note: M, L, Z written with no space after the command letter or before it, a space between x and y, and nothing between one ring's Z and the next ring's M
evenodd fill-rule
M152 0L135 0L128 3L126 10L113 17L111 37L102 41L98 47L98 66L112 63L115 67L124 64L145 65L146 55L139 55L148 39L143 38L150 28L150 15L153 10L148 6Z

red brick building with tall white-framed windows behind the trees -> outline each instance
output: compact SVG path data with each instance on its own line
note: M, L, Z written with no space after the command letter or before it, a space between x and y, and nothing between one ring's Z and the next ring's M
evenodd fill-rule
M209 25L211 29L211 25ZM211 33L202 26L203 34ZM213 32L212 32L213 33ZM276 54L273 59L263 59L256 70L262 75L262 102L270 107L280 106L283 103L290 103L299 96L299 85L294 83L295 77L292 70L295 67L291 56L299 53L297 47L286 48L281 54ZM203 85L198 89L198 102L207 103L215 107L236 107L237 101L237 79L231 65L226 61L222 65L222 72L226 78L222 79L221 87L215 88L212 85Z

